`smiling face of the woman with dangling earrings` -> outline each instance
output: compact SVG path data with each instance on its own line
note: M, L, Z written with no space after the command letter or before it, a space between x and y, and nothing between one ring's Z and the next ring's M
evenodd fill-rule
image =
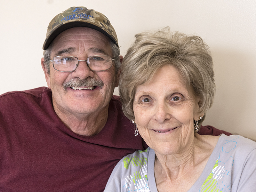
M182 153L194 138L198 101L176 67L164 65L135 92L133 111L142 138L162 155Z

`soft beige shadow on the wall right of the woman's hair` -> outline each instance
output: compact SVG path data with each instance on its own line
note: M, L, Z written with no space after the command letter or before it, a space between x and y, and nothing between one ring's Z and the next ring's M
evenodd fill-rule
M227 50L212 49L216 94L203 124L256 140L256 57Z

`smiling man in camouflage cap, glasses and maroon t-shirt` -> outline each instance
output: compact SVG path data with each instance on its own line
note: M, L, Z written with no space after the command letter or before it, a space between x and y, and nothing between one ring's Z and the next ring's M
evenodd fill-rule
M43 49L48 88L0 96L0 191L103 191L117 162L147 147L112 96L116 32L100 12L71 7L50 22Z

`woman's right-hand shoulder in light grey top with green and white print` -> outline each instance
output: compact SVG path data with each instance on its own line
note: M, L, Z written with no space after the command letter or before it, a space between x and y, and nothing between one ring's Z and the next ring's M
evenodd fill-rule
M232 191L250 191L244 189L255 185L255 158L256 142L240 135L220 135L202 174L201 188L214 183L212 187L222 191L230 191L231 186Z

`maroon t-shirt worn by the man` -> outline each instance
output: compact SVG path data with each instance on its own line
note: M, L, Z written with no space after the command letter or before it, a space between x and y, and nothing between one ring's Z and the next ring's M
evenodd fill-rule
M200 134L220 135L212 126ZM52 92L39 87L0 96L0 191L103 191L125 155L147 148L124 116L118 96L95 136L72 132L52 107Z

